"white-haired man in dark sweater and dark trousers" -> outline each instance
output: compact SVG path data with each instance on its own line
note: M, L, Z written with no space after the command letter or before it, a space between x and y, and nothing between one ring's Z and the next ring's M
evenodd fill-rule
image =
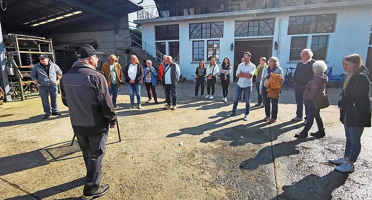
M297 104L297 111L296 117L293 118L293 121L301 121L302 120L302 111L303 111L303 92L305 90L306 84L311 80L313 77L313 63L315 60L312 59L313 52L311 49L305 48L301 51L301 61L297 64L293 82L295 89L295 99ZM303 124L307 122L307 108L305 106L305 121Z

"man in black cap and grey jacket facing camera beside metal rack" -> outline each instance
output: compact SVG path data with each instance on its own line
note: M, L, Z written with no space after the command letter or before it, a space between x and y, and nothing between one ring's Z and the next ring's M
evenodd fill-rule
M47 119L50 115L61 115L57 106L57 90L59 79L62 77L61 69L51 61L46 54L39 56L40 62L34 65L31 69L31 79L39 88L41 101L45 115L43 119ZM50 105L49 105L50 94ZM50 112L50 106L52 107Z

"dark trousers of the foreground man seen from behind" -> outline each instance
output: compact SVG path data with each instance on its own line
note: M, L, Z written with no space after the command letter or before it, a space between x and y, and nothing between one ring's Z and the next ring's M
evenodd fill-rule
M98 190L102 177L102 159L106 152L108 128L93 135L76 134L77 142L83 152L87 176L83 194Z

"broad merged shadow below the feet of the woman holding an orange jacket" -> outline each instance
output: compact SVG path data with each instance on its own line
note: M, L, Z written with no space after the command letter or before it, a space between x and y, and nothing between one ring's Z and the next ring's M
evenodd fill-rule
M296 124L295 121L283 122L274 126L268 126L267 122L258 120L249 124L240 124L234 127L217 130L204 137L200 142L214 142L217 140L231 141L230 146L242 146L247 143L264 144L277 140L279 135L288 131L302 127L302 124ZM275 130L275 131L272 131Z

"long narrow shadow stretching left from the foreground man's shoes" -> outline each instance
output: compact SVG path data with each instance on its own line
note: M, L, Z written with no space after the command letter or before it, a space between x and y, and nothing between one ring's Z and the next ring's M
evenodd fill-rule
M29 194L29 195L12 197L12 198L8 198L8 199L5 199L5 200L35 200L35 199L42 200L42 199L45 199L47 197L51 197L53 195L57 195L59 193L66 192L66 191L71 190L73 188L82 186L82 185L84 185L84 183L85 183L85 177L78 178L78 179L72 180L70 182L63 183L61 185L53 186L53 187L50 187L50 188L46 188L44 190L34 192L32 194ZM80 198L68 198L68 199L65 199L65 200L79 200L79 199Z

